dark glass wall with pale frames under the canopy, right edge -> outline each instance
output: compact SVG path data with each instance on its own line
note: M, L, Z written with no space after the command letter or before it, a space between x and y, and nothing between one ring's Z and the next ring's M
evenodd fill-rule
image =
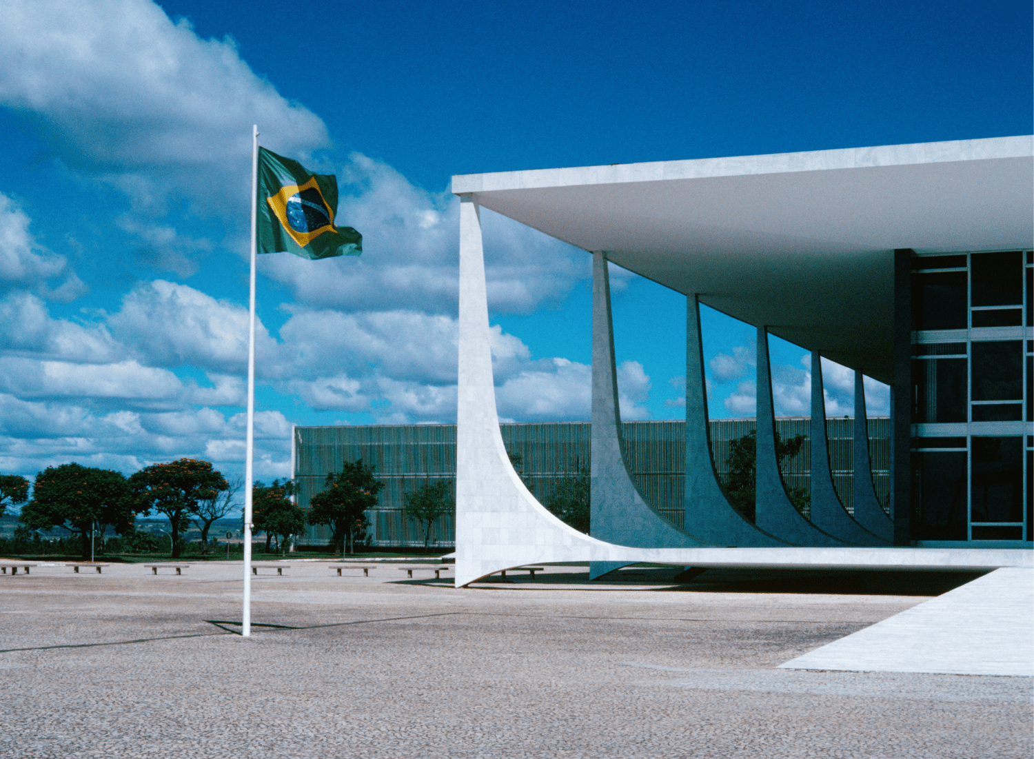
M912 270L912 539L1029 544L1032 252L919 254Z

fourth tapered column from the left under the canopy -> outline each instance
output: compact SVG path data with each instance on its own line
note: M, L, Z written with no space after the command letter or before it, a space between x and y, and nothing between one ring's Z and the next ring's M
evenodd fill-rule
M770 535L800 546L843 546L800 515L786 494L776 457L776 413L768 361L768 330L758 327L757 495L755 523Z

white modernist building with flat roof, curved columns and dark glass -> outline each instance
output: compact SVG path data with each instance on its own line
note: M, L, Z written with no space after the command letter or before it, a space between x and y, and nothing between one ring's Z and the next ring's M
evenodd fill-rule
M529 561L1030 566L1032 138L456 176L460 198L457 584ZM480 208L594 256L592 523L524 487L495 412ZM685 520L621 454L607 262L687 297ZM757 503L708 445L699 304L758 330ZM812 509L773 439L767 335L812 352ZM891 386L890 514L856 445L853 514L828 474L820 356ZM862 393L855 434L865 439ZM967 550L957 550L966 548Z

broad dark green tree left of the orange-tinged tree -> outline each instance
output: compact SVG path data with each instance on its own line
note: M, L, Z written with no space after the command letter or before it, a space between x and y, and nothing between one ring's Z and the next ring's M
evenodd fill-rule
M138 511L121 472L70 463L36 475L32 500L22 508L19 521L28 529L64 527L79 537L83 558L88 559L94 523L122 535L131 532Z

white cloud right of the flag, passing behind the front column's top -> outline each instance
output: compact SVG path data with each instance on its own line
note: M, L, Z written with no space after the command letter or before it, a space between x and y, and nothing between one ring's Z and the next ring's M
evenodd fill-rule
M363 234L363 255L318 262L264 255L263 273L311 308L455 314L459 202L448 192L420 189L358 153L340 172L339 184L337 219ZM528 313L559 303L589 276L588 253L485 209L481 218L492 311Z

